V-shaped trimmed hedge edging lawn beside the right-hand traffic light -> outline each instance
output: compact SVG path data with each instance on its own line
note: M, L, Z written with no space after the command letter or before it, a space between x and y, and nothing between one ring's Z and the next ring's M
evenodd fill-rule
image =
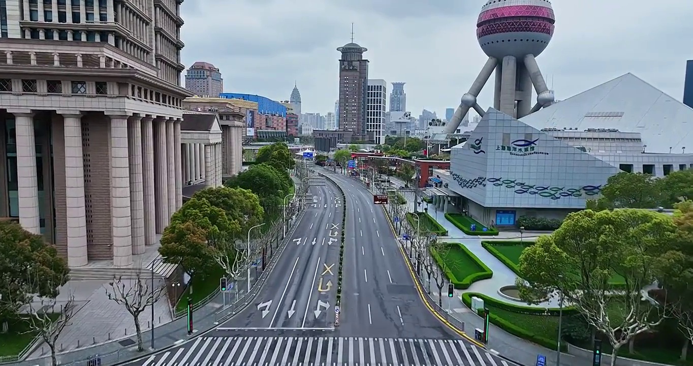
M518 326L516 322L514 322L513 320L506 319L494 313L493 308L501 309L503 311L508 311L512 313L535 316L558 316L559 308L535 308L530 306L520 306L509 304L507 302L502 302L498 299L493 299L492 297L488 297L480 293L463 293L462 302L464 302L464 304L468 306L468 308L471 308L472 306L472 297L479 297L480 299L484 300L484 307L489 308L490 311L489 320L491 321L491 323L495 324L500 329L507 331L508 333L511 333L514 336L524 338L525 340L529 340L530 342L534 342L537 345L541 345L549 349L556 349L556 347L558 347L558 342L556 342L556 339L545 338L542 335L533 333L529 329L524 329L523 327ZM577 310L575 310L575 308L563 308L564 316L575 315L577 313L578 312ZM563 343L561 345L561 350L565 351L566 349L567 346L565 346L565 343Z

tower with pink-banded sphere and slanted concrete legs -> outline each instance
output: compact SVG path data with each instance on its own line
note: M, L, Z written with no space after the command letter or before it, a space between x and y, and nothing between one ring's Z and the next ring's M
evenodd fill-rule
M469 108L484 115L477 96L495 71L493 107L517 119L554 103L536 64L554 34L554 10L546 0L489 0L477 20L477 38L489 56L469 92L462 96L446 133L457 130ZM532 107L532 86L536 104Z

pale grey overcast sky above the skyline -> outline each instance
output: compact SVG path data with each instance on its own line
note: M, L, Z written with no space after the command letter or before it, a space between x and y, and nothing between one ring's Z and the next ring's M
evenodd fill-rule
M325 114L338 94L335 49L350 41L353 22L354 41L369 49L369 78L407 82L407 110L444 116L486 60L475 34L484 2L188 0L182 58L186 67L195 61L219 67L225 92L285 100L296 80L303 112ZM557 99L630 72L681 100L685 60L693 58L693 1L556 0L553 6L556 31L537 61ZM492 81L479 98L484 109Z

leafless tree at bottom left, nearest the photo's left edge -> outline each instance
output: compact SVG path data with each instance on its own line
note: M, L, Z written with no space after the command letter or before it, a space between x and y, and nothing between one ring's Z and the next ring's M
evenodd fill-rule
M58 302L56 299L37 297L38 301L28 302L26 324L28 330L25 333L36 334L51 351L51 366L58 366L55 344L60 333L70 322L75 314L75 297L72 293L67 295L67 300ZM58 319L56 319L58 317Z

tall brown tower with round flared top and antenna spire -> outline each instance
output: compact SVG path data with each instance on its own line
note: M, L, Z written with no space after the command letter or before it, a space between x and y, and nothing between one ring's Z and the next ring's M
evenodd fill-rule
M353 42L337 48L340 58L340 130L353 131L354 139L366 139L368 60L365 47Z

